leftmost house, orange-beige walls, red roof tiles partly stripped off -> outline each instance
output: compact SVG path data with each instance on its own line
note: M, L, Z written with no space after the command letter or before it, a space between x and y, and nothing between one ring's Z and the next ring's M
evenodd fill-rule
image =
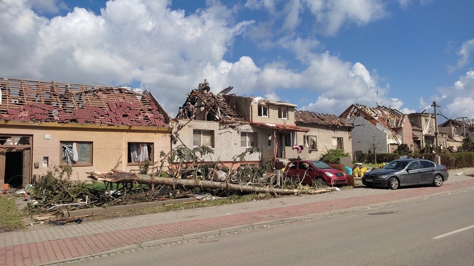
M169 117L141 90L0 79L0 185L20 188L54 166L72 178L138 169L168 151Z

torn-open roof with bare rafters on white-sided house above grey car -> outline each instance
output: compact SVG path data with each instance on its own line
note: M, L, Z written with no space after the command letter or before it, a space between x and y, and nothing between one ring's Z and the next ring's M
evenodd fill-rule
M377 107L368 107L363 104L352 104L346 109L339 117L355 118L358 116L364 117L364 115L377 120L380 124L384 125L389 129L401 128L405 122L407 115L401 113L396 109L392 109L385 106L377 105ZM367 119L367 117L364 117Z

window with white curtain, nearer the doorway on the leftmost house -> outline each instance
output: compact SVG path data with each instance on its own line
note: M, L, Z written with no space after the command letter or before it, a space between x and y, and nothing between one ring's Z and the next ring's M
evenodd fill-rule
M92 165L92 142L61 142L62 164Z

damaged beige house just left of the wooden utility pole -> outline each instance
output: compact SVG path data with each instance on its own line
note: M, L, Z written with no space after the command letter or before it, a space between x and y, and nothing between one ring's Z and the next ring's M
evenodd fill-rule
M414 148L422 149L426 145L436 145L436 122L434 114L412 113L408 115L413 127ZM438 147L446 148L448 132L438 129Z

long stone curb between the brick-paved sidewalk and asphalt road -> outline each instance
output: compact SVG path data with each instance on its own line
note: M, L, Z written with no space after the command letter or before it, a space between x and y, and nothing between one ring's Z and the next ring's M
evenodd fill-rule
M217 236L217 235L222 235L222 234L234 233L234 232L237 232L237 231L250 230L250 229L254 229L254 228L262 228L262 227L266 227L266 226L270 226L270 225L277 225L277 224L284 224L284 223L290 223L290 222L299 222L299 221L304 221L304 220L317 219L317 218L321 218L321 217L327 217L327 216L332 216L332 215L356 212L356 211L361 211L361 210L370 209L370 208L392 206L392 205L397 205L397 204L416 201L416 200L435 198L435 197L449 195L449 194L453 194L453 193L468 192L468 191L473 191L473 190L474 190L474 187L467 187L467 188L456 189L456 190L452 190L452 191L438 192L438 193L433 193L433 194L429 194L429 195L417 196L417 197L406 198L406 199L401 199L401 200L375 203L375 204L366 205L366 206L358 206L358 207L337 209L337 210L331 210L331 211L325 211L325 212L320 212L320 213L314 213L314 214L298 216L298 217L285 218L285 219L273 220L273 221L267 221L267 222L258 222L258 223L248 224L248 225L228 227L228 228L223 228L223 229L220 229L220 230L212 230L212 231L200 232L200 233L184 235L184 236L175 236L175 237L165 238L165 239L157 239L157 240L142 242L142 243L138 243L138 244L128 245L128 246L125 246L125 247L116 248L116 249L109 250L109 251L102 251L102 252L94 253L92 255L85 255L85 256L76 257L76 258L70 258L70 259L64 259L64 260L60 260L60 261L37 264L36 266L46 266L46 265L52 265L52 264L60 264L60 263L66 263L66 262L72 262L72 261L85 260L87 258L106 257L106 256L108 256L109 254L112 254L112 253L127 252L127 251L131 251L131 250L138 250L138 249L152 247L152 246L156 246L156 245L170 244L170 243L174 243L174 242L190 240L190 239L197 239L197 238L207 237L207 236Z

